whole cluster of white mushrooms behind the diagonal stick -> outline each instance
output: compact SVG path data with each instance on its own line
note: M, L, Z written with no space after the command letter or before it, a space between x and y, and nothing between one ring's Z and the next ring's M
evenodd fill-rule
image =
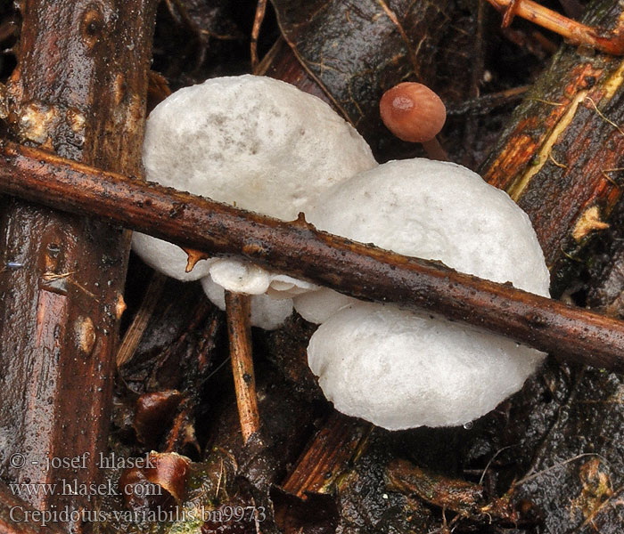
M377 165L329 106L274 79L215 78L172 94L148 120L144 166L153 182L286 221L304 212L320 230L548 295L535 232L505 192L452 163ZM294 301L320 324L308 362L325 396L390 430L472 421L543 358L501 336L234 259L202 260L187 273L182 249L143 234L133 247L168 276L201 279L221 309L225 290L253 295L254 326L277 328Z

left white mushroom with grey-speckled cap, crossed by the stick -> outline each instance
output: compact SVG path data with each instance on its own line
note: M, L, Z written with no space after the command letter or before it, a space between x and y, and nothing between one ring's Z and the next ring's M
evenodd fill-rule
M152 182L283 220L295 219L336 182L376 165L364 139L324 101L250 75L210 79L161 102L147 121L143 158ZM286 297L316 288L229 258L201 260L185 273L181 249L141 234L133 249L177 279L209 275L208 295L218 294L212 283Z

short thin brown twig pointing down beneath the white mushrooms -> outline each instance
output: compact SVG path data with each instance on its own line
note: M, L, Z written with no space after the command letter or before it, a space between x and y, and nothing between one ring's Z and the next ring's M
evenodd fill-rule
M226 291L227 333L242 441L260 429L256 380L251 356L250 296Z

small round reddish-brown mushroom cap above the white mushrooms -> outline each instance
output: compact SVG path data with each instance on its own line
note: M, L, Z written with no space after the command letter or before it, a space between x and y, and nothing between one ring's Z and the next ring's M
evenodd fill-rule
M429 87L415 82L395 85L379 102L383 124L399 139L431 141L447 120L444 102Z

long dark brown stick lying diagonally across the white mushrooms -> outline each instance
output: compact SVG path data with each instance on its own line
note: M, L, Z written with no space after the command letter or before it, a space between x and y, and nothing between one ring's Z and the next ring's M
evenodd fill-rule
M5 142L0 190L178 245L237 255L364 300L429 310L541 351L624 370L624 322L259 214Z

